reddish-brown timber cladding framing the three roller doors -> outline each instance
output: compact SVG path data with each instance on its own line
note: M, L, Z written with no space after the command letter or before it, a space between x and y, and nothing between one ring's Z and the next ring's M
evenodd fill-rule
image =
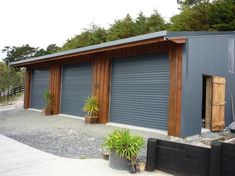
M151 41L152 42L152 41ZM156 43L154 43L156 42ZM29 108L27 102L30 99L30 84L27 80L31 79L30 68L38 68L50 66L50 89L53 94L54 104L53 113L60 113L60 89L61 89L61 66L62 64L79 64L81 62L92 62L93 67L93 84L92 92L99 98L101 112L99 114L99 122L106 123L109 121L109 92L110 92L110 73L111 60L115 57L142 56L161 52L169 53L170 61L170 98L169 98L169 114L168 114L168 132L169 135L180 135L180 114L181 114L181 88L182 88L182 51L183 43L180 41L161 41L155 39L152 43L146 44L140 42L133 46L123 48L117 47L107 49L102 52L78 53L72 56L64 56L64 58L55 58L54 61L42 61L41 63L30 64L27 66L26 73L26 92L25 92L25 108Z

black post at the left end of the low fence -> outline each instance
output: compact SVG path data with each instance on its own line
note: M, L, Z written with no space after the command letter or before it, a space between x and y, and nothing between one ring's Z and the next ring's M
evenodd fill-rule
M154 171L157 160L157 139L149 138L147 144L146 171Z

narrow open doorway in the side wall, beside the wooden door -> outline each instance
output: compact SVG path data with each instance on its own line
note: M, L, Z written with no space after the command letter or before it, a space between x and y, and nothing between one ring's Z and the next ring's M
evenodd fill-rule
M211 129L212 76L202 76L202 128Z

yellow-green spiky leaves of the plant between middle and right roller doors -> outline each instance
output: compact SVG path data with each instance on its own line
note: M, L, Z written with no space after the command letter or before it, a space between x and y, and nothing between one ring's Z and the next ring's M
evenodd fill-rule
M88 116L97 115L100 111L98 99L95 96L88 97L85 100L83 111L87 112Z

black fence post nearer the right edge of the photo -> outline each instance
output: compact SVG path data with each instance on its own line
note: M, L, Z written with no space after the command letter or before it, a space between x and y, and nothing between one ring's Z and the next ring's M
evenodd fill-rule
M222 160L222 143L213 141L211 143L211 157L210 157L210 176L220 176Z

